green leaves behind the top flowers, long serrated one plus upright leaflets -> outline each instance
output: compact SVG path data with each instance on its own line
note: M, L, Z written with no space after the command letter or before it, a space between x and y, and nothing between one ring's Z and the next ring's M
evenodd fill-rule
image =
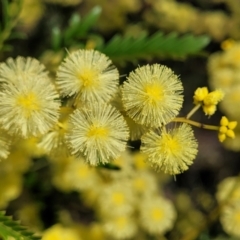
M134 61L137 59L149 59L152 57L185 58L191 54L197 54L210 41L208 36L194 36L177 33L168 35L156 32L149 36L142 34L138 38L131 36L115 35L110 41L104 43L99 35L91 34L101 13L101 8L96 6L81 20L77 14L73 14L68 27L61 31L59 27L52 30L52 48L58 51L62 48L85 48L86 43L92 40L95 49L105 53L113 61Z

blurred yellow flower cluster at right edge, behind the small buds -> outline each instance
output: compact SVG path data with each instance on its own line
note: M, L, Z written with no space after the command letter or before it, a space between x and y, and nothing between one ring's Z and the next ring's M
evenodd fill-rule
M240 43L234 40L226 40L222 43L223 52L217 52L210 56L208 61L209 84L212 89L220 88L225 97L220 103L221 110L231 119L240 120ZM221 126L234 129L236 126L226 120L221 122ZM234 127L234 128L233 128ZM221 133L225 133L225 128L221 128ZM228 134L227 134L228 135ZM232 134L231 134L232 135ZM223 136L223 135L222 135ZM235 138L226 139L224 144L227 148L239 151L240 128L235 128ZM221 137L224 139L224 137Z

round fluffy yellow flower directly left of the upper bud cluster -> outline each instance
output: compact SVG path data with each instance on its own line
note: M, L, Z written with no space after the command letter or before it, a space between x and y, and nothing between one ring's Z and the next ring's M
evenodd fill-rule
M159 127L179 113L182 91L182 83L171 69L159 64L146 65L130 73L122 88L122 100L134 121Z

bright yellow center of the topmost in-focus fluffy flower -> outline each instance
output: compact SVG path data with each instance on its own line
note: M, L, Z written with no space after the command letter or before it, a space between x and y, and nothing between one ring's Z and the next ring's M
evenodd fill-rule
M79 72L77 77L83 83L84 87L96 87L98 84L98 74L92 69L85 69Z

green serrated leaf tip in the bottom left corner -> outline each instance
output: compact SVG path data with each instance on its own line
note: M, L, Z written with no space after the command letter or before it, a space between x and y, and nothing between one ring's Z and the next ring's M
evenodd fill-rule
M40 240L40 237L34 236L34 233L28 231L19 222L12 220L11 217L5 216L4 211L0 211L0 236L4 240Z

